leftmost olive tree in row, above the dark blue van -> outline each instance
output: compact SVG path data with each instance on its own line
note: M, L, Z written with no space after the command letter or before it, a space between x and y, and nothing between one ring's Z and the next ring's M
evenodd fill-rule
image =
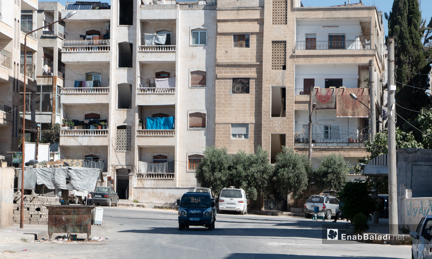
M214 193L220 193L229 183L231 167L232 159L226 148L207 146L195 171L195 177L201 186L212 188Z

